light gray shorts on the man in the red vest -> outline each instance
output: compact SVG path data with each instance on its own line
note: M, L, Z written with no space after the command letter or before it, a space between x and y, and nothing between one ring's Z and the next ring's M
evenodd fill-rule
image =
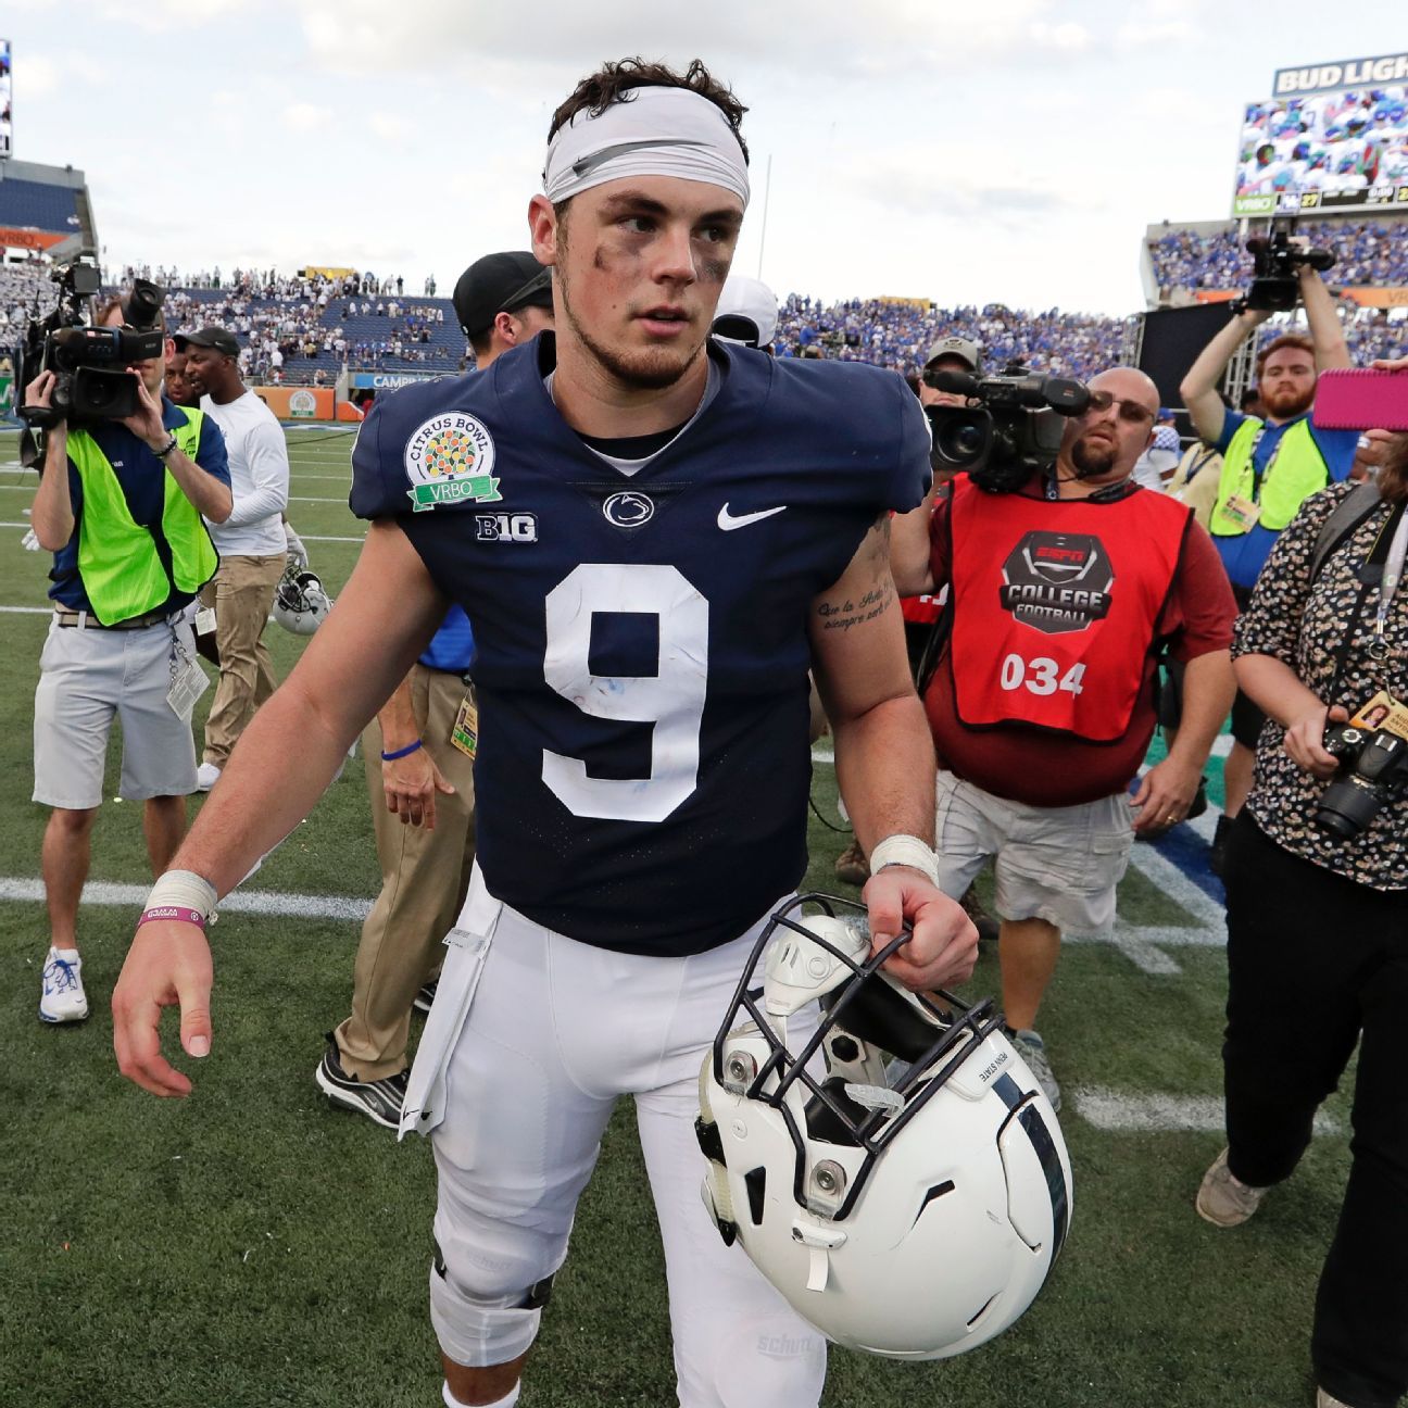
M1077 807L1028 807L939 770L939 888L959 898L994 857L1004 919L1046 919L1062 934L1108 935L1132 845L1125 793Z

